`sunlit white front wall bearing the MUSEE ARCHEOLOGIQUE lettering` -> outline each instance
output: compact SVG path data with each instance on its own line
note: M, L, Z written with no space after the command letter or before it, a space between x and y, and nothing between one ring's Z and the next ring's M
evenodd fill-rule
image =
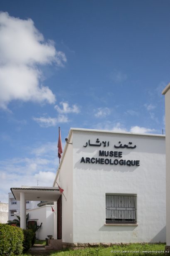
M83 147L97 138L109 147ZM136 148L114 148L119 141ZM122 151L120 159L140 160L140 166L80 163L99 158L99 150ZM67 190L71 184L70 178ZM106 193L137 194L138 226L104 226ZM73 242L165 242L165 225L165 136L73 131ZM70 241L65 232L63 240Z

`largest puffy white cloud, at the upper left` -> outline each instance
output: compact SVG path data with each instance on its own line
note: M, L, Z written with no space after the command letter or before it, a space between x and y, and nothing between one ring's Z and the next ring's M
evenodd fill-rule
M0 13L0 107L12 100L54 103L52 91L40 84L42 64L63 66L66 56L45 42L31 19Z

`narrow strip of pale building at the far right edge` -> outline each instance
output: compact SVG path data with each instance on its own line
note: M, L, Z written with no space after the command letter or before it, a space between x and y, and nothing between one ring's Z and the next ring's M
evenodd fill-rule
M170 83L162 94L165 95L166 125L166 250L170 251Z

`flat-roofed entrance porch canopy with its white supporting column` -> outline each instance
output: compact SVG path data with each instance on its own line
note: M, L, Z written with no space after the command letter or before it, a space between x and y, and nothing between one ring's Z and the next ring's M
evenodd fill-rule
M58 187L12 187L11 192L20 201L20 227L26 229L26 201L57 202L60 197Z

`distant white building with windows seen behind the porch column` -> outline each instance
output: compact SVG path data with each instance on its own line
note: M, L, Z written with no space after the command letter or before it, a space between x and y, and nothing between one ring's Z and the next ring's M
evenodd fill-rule
M40 201L26 200L26 209L29 210L37 208L37 204L39 204L39 202ZM15 215L20 214L20 201L17 201L12 193L8 193L8 207L8 219L16 219Z

